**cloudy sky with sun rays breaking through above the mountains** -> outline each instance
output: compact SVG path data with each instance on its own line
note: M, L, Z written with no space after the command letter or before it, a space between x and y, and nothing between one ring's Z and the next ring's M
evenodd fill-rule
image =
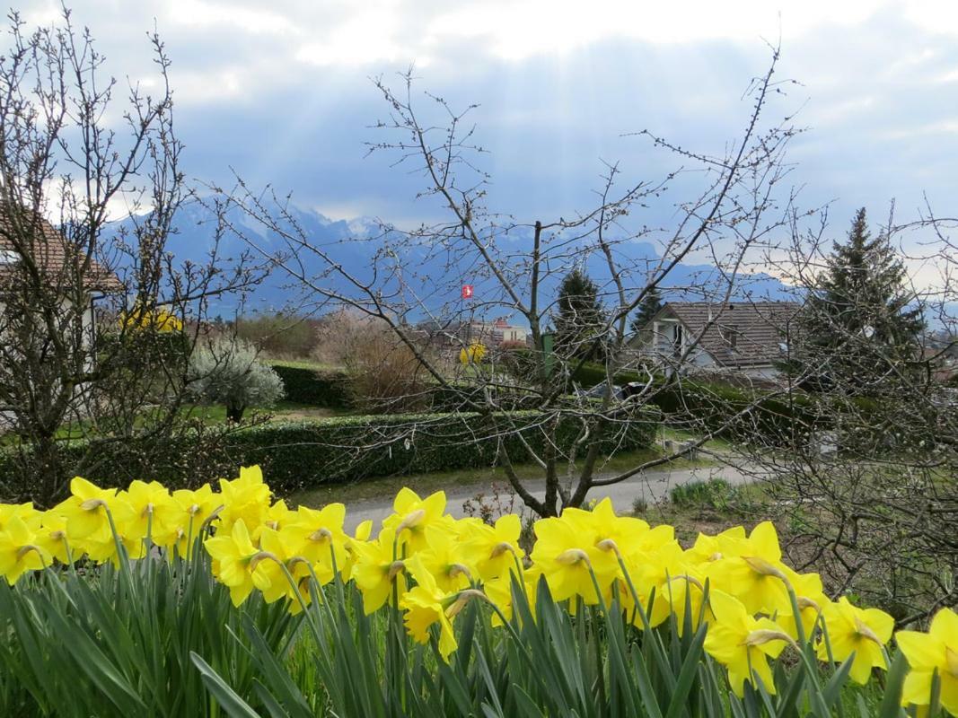
M20 4L28 22L57 5ZM742 92L781 36L771 112L801 108L791 176L807 205L914 213L958 204L958 3L742 0L76 0L117 77L150 81L154 23L173 60L177 124L196 178L228 168L336 218L430 212L417 178L365 158L385 114L370 78L415 63L422 89L472 115L491 204L523 220L588 206L601 160L653 178L674 158L643 128L720 152Z

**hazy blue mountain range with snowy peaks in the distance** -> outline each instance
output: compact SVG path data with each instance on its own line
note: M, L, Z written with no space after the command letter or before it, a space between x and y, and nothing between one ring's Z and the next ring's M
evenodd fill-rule
M377 253L383 251L387 242L393 245L393 242L388 239L386 241L381 239L376 241L367 238L363 241L350 241L354 237L363 238L382 235L379 224L368 217L337 220L303 208L294 208L290 213L303 234L308 236L310 243L321 247L331 258L353 274L356 280L373 280L374 258L376 258ZM280 237L265 232L262 226L239 210L232 210L228 214L228 218L244 233L253 237L266 252L281 251L284 248L284 242ZM120 227L129 224L130 221L126 219L114 226ZM177 214L174 224L175 233L168 242L168 250L174 258L179 262L185 260L205 261L214 244L216 225L211 213L198 203L192 203L185 206ZM501 242L501 247L506 246L508 242L513 242L515 256L519 256L521 255L521 248L531 246L532 236L531 233L525 233L524 231L513 232L503 238ZM399 261L406 268L404 271L407 272L404 281L416 287L417 297L430 311L442 313L444 308L446 310L450 307L461 308L460 285L471 284L474 287L477 304L492 303L493 306L490 306L489 311L495 316L509 313L508 305L499 303L504 298L501 297L497 282L487 276L488 272L483 271L481 263L476 262L474 253L463 253L463 258L457 258L445 252L435 252L433 251L434 248L425 244L417 245L402 242L398 246ZM247 250L249 250L249 245L238 236L230 234L223 236L220 240L219 252L224 258L238 258L242 252ZM637 241L619 242L614 245L614 251L621 266L632 268L627 283L633 286L643 286L645 284L645 268L654 267L658 258L654 245ZM563 248L563 257L558 263L559 266L563 267L563 271L565 265L578 262L592 280L600 285L604 293L611 293L614 290L602 254L586 252L584 244L577 250L575 243L571 243ZM323 260L309 254L302 255L302 258L303 266L309 275L318 277L324 274L327 265ZM513 266L513 276L516 285L520 287L520 291L528 285L528 277L525 276L523 268L517 261ZM542 296L554 297L560 280L561 274L557 272L543 281ZM348 292L351 289L348 281L337 277L335 274L326 273L321 281L323 286L329 286L338 291ZM396 280L391 281L392 283L387 282L387 286L394 288L398 286ZM301 291L291 288L295 283L283 270L274 270L271 276L247 298L244 310L253 309L272 312L282 310L290 305L296 305L304 298ZM666 301L703 301L708 299L707 295L714 294L715 287L719 285L722 285L722 281L715 266L678 264L666 280L662 282L661 286L664 290L663 299ZM712 292L709 291L710 287L713 290ZM793 298L793 294L789 293L789 288L781 281L766 274L748 274L741 277L732 299L737 301L745 299L787 301ZM239 298L227 300L211 307L212 313L227 316L234 313L238 305ZM417 310L412 308L411 314L413 316L408 317L408 319L416 321L419 319L415 316L417 313Z

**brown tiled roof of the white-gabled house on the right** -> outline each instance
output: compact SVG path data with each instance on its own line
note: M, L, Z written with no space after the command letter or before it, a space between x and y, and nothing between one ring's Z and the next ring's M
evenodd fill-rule
M720 365L749 367L781 356L798 310L799 304L791 302L670 302L653 321L672 315L685 325L687 341L701 333L698 347Z

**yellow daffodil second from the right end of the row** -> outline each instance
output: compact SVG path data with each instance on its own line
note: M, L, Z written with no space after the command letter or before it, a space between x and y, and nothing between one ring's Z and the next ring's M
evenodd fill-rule
M883 647L892 637L895 619L877 608L858 608L842 596L822 609L829 644L819 642L818 658L829 660L829 647L835 662L844 662L855 654L849 675L859 684L868 682L872 668L887 669Z

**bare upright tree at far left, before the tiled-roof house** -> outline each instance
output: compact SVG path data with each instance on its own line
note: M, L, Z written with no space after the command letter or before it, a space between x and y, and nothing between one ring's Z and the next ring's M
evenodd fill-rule
M0 58L0 416L16 470L8 499L56 501L76 473L117 451L143 471L176 437L205 313L258 279L220 254L177 264L174 217L190 197L180 168L170 60L148 35L155 93L104 75L92 34L64 8L29 32L10 16ZM124 96L125 94L125 96ZM117 230L111 209L132 224ZM8 464L9 465L9 464ZM111 477L122 481L119 476ZM135 477L130 477L135 478Z

